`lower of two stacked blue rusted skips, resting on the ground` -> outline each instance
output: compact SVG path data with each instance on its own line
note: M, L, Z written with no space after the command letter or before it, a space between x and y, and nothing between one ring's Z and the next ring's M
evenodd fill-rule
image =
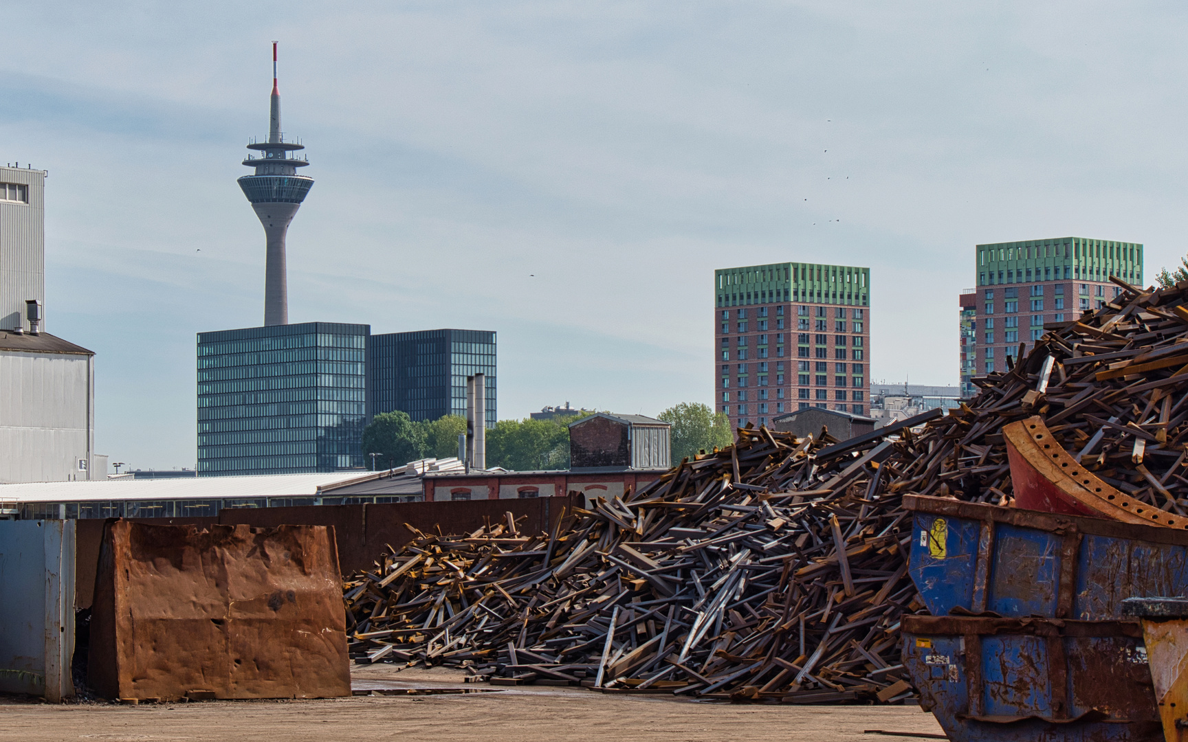
M904 616L903 641L954 742L1163 738L1136 621Z

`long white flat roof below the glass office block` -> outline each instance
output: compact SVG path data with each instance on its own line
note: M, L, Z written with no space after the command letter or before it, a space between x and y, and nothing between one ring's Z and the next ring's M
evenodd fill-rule
M322 490L366 482L385 471L200 476L176 480L100 480L0 484L0 500L102 502L106 500L204 500L223 497L314 497Z

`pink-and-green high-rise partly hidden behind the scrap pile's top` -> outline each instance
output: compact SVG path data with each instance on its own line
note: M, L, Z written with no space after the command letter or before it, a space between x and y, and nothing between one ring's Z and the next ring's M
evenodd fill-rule
M974 343L962 353L974 374L1007 369L1007 357L1025 353L1043 336L1045 323L1072 322L1121 292L1114 275L1143 283L1143 246L1137 242L1055 237L996 242L974 248L978 287L974 300ZM962 321L965 317L962 304ZM962 387L966 374L962 372Z

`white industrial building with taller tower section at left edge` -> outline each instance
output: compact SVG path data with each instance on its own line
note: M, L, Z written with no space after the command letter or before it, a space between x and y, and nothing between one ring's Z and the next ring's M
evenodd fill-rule
M45 175L0 167L0 483L96 469L95 354L45 331Z

